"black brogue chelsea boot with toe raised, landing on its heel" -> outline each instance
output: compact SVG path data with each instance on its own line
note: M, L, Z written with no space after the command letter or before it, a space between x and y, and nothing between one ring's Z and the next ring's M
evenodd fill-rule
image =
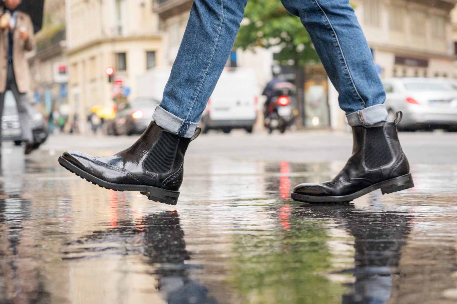
M66 151L58 158L65 169L106 189L140 191L151 201L176 205L184 155L192 138L166 132L154 122L129 148L108 156Z

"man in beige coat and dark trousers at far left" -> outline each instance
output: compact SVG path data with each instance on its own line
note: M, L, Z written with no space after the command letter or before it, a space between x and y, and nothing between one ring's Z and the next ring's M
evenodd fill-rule
M0 9L0 117L3 113L5 91L11 90L16 99L22 140L26 143L25 154L36 149L33 144L30 121L30 104L27 91L30 86L30 71L25 56L35 46L33 25L30 16L17 9L21 0L3 0Z

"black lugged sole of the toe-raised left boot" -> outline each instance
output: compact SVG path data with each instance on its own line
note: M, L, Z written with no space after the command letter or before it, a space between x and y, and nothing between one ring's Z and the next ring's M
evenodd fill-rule
M158 201L160 203L164 203L167 205L176 205L176 203L178 202L178 197L180 193L179 191L171 191L147 185L123 185L110 183L108 181L101 180L100 178L78 168L62 156L59 156L58 162L65 169L73 172L74 174L78 175L79 177L87 181L90 181L92 184L98 185L102 188L114 191L140 191L140 193L147 196L150 201Z

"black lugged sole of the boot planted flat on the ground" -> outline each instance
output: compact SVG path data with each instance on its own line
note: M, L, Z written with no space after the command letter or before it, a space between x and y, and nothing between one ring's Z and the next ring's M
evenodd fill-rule
M292 199L294 201L303 201L306 203L341 203L353 201L358 197L361 197L367 193L381 189L383 194L393 193L402 191L414 187L413 177L411 173L401 175L399 177L392 178L390 180L383 180L377 184L368 186L362 190L348 194L345 196L311 196L292 192Z

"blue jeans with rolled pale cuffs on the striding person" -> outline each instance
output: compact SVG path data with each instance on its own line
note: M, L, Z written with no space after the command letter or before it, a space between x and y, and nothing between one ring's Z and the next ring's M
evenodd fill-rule
M191 137L223 71L247 0L194 0L162 102L153 119ZM300 20L351 126L387 120L385 92L372 53L349 0L282 0Z

